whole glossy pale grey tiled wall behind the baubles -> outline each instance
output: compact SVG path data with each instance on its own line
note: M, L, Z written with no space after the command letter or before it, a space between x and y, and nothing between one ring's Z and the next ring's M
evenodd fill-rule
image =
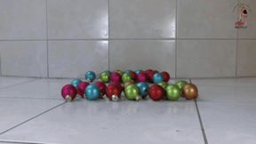
M237 30L236 0L0 0L0 70L84 77L150 67L172 77L256 76L256 2L244 2L249 26Z

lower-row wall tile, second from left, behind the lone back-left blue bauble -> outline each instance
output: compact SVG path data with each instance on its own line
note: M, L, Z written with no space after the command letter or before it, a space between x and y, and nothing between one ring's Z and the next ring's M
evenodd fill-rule
M84 77L108 69L108 41L50 41L49 76Z

